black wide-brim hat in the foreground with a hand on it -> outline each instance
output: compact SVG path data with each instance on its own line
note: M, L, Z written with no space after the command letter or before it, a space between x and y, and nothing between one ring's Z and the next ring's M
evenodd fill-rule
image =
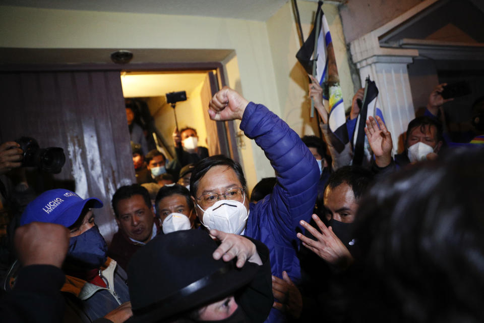
M254 278L258 265L213 259L218 244L205 230L158 235L128 264L133 317L127 322L158 322L234 294Z

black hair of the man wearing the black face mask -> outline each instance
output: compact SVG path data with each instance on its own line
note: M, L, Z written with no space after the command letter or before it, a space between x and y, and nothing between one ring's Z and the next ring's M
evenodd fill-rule
M354 199L356 201L367 191L373 181L373 173L360 166L344 166L331 173L326 182L326 186L335 189L339 185L346 183L351 186Z

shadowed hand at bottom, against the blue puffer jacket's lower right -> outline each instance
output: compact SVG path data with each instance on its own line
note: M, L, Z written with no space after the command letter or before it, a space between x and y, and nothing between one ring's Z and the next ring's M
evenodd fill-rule
M293 318L299 318L302 310L302 296L286 272L282 272L282 279L272 276L272 294L279 300L274 302L272 307L289 313Z

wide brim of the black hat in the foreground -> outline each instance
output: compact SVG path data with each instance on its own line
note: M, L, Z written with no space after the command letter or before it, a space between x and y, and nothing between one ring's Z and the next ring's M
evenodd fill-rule
M258 267L259 265L251 262L246 262L242 268L235 268L234 264L234 268L229 273L214 278L206 287L183 297L175 297L167 301L160 300L159 306L150 308L146 312L134 310L133 316L126 322L155 323L163 320L169 321L202 305L208 305L225 296L233 295L254 279L259 270Z

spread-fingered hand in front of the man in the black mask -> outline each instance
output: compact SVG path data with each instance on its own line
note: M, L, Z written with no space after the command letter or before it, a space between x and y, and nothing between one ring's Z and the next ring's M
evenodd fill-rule
M299 224L311 233L316 240L308 238L301 233L297 234L297 238L301 240L303 246L316 253L322 259L341 269L346 268L353 261L349 250L334 234L331 227L327 228L316 214L313 214L313 220L321 232L306 221L301 220Z

